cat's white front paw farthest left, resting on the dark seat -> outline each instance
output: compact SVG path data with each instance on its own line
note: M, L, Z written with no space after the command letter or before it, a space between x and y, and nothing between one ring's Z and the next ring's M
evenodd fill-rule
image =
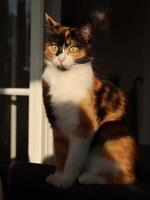
M74 184L74 179L62 174L50 174L46 177L46 182L56 187L69 188Z

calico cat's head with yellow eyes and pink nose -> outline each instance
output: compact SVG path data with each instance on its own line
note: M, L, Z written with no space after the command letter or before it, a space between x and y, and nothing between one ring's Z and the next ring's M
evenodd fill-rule
M66 71L79 63L90 62L92 25L78 28L62 26L45 14L44 59Z

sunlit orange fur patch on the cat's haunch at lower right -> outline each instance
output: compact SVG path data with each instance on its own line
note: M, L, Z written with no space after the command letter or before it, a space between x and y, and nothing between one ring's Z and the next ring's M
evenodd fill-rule
M128 184L135 180L136 144L132 137L124 136L106 141L103 147L104 155L111 159L119 168L116 177L107 177L109 182Z

